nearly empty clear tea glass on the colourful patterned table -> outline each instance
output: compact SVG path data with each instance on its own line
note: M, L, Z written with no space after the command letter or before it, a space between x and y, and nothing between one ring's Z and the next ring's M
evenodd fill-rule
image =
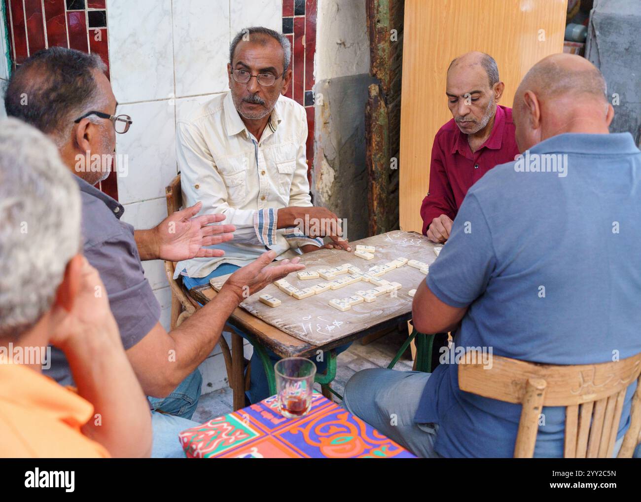
M274 365L278 408L287 418L306 415L312 407L316 365L303 357L288 357Z

